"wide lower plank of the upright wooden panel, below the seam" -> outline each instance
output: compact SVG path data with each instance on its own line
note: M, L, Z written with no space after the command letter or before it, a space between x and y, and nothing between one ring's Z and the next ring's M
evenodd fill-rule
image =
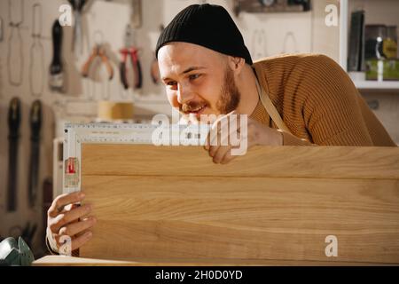
M82 190L98 218L84 257L399 263L395 179L83 175Z

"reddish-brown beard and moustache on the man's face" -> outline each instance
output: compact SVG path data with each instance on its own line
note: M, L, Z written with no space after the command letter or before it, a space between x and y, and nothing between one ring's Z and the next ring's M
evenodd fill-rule
M226 67L224 72L224 82L222 89L220 91L220 97L216 102L215 108L219 114L229 114L239 106L239 101L241 99L241 94L239 88L234 81L233 71ZM188 113L198 106L206 104L208 107L211 106L207 100L202 102L189 102L180 106L180 112Z

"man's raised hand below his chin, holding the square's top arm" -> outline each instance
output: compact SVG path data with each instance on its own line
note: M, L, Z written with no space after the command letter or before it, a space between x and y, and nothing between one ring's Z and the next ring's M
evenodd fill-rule
M231 112L212 124L205 149L213 162L222 164L231 162L242 152L238 147L242 148L243 144L245 146L243 154L246 153L246 149L255 145L283 145L283 135L280 131L243 115Z

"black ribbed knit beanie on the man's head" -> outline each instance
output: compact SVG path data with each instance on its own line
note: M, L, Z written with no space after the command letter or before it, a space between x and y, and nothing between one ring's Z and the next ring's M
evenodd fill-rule
M240 57L252 65L251 55L229 12L214 4L192 4L179 12L160 34L155 49L166 43L194 43L213 51Z

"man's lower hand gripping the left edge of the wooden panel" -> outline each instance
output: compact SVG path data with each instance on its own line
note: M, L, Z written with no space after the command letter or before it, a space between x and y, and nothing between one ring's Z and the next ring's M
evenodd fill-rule
M59 195L52 201L47 212L47 237L52 249L59 251L59 248L65 244L66 237L70 237L71 251L82 247L91 239L90 228L96 224L96 219L87 217L91 212L90 205L76 205L83 199L84 193L78 192Z

